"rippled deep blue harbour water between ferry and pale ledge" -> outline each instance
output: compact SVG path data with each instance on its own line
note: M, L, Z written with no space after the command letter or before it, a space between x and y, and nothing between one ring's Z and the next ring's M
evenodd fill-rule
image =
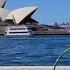
M70 47L70 36L0 37L0 66L53 66ZM70 66L70 52L59 66Z

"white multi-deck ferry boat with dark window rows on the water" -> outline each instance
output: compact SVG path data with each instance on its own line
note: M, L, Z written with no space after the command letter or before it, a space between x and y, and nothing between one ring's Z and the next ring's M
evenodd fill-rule
M7 26L5 30L7 36L31 35L31 31L25 25Z

